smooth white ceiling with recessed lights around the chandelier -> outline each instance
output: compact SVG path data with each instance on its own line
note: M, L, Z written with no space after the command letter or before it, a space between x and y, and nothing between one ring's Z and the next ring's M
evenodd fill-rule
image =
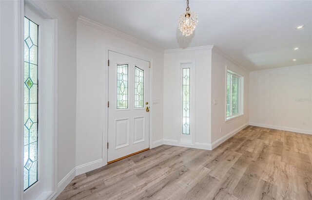
M67 4L83 17L164 50L215 45L250 71L312 63L312 0L190 0L198 26L188 37L177 29L185 0ZM301 24L305 27L295 30Z

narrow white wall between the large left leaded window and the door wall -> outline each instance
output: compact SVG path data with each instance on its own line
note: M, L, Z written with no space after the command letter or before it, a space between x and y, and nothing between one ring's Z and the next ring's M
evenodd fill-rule
M58 20L58 182L75 165L76 20L57 1L41 1Z

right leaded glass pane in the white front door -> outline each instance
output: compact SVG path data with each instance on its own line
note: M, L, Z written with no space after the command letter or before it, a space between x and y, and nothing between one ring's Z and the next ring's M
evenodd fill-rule
M135 69L135 108L143 108L144 101L144 70Z

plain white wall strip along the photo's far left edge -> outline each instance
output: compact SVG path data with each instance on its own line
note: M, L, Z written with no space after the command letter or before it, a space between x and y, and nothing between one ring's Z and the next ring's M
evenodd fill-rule
M0 1L0 199L16 199L17 185L17 54L18 32L14 1Z

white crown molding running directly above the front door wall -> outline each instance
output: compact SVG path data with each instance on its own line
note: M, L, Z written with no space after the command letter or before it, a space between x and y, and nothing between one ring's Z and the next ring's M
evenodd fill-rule
M98 29L98 30L101 30L101 31L103 31L103 32L106 32L106 33L108 33L108 34L111 34L111 35L113 35L113 36L117 36L117 37L120 37L120 38L122 38L122 39L128 40L128 41L130 41L130 42L136 43L137 45L143 46L143 47L145 47L145 48L148 48L148 49L151 49L151 50L160 52L160 53L163 53L163 52L164 52L164 50L161 49L161 48L159 48L159 47L156 47L156 46L154 46L154 45L152 45L152 44L149 44L149 43L147 43L147 42L144 42L144 41L142 41L142 40L140 40L140 39L137 39L137 38L135 38L135 37L133 37L133 36L129 36L129 35L127 35L127 34L124 34L124 33L120 32L120 31L117 31L117 30L115 30L115 29L112 29L112 28L110 28L110 27L108 27L108 26L105 26L105 25L103 25L103 24L100 24L100 23L98 23L98 22L96 22L96 21L93 21L93 20L91 20L91 19L88 19L88 18L79 16L78 19L77 19L77 21L80 22L80 23L86 24L86 25L88 25L88 26L94 27L94 28L96 28L96 29Z

